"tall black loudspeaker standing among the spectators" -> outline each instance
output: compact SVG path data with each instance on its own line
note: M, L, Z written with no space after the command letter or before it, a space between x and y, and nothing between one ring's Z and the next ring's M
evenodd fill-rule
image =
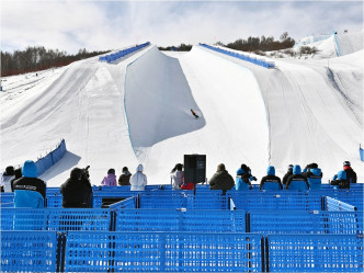
M203 183L206 180L206 155L184 155L184 182Z

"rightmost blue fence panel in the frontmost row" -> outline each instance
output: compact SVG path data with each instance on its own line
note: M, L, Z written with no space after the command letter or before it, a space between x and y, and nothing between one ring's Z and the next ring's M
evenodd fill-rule
M362 235L269 235L269 272L363 272Z

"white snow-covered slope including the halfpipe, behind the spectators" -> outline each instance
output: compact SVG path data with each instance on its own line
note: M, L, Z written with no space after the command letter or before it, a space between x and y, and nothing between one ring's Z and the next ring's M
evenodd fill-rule
M168 184L191 153L206 155L207 178L221 162L232 175L247 163L259 181L269 164L283 175L289 163L317 162L327 180L349 160L363 182L362 38L340 36L342 57L332 56L333 41L321 41L330 59L274 59L275 69L201 46L164 54L151 45L114 64L94 57L5 77L1 169L65 138L67 153L41 177L48 186L75 167L90 164L92 184L101 184L110 168L118 175L138 163L149 184Z

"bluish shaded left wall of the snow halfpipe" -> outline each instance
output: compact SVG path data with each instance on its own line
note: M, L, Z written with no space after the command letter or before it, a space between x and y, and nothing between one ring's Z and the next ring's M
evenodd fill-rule
M201 117L196 120L191 109ZM155 144L205 125L179 60L156 46L127 68L125 110L132 145L140 161Z

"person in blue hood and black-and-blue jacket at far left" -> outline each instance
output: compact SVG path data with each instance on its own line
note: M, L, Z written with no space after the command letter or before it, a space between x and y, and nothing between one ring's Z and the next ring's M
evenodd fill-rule
M14 207L45 207L46 184L37 179L37 168L34 161L26 160L22 168L23 177L15 180Z

